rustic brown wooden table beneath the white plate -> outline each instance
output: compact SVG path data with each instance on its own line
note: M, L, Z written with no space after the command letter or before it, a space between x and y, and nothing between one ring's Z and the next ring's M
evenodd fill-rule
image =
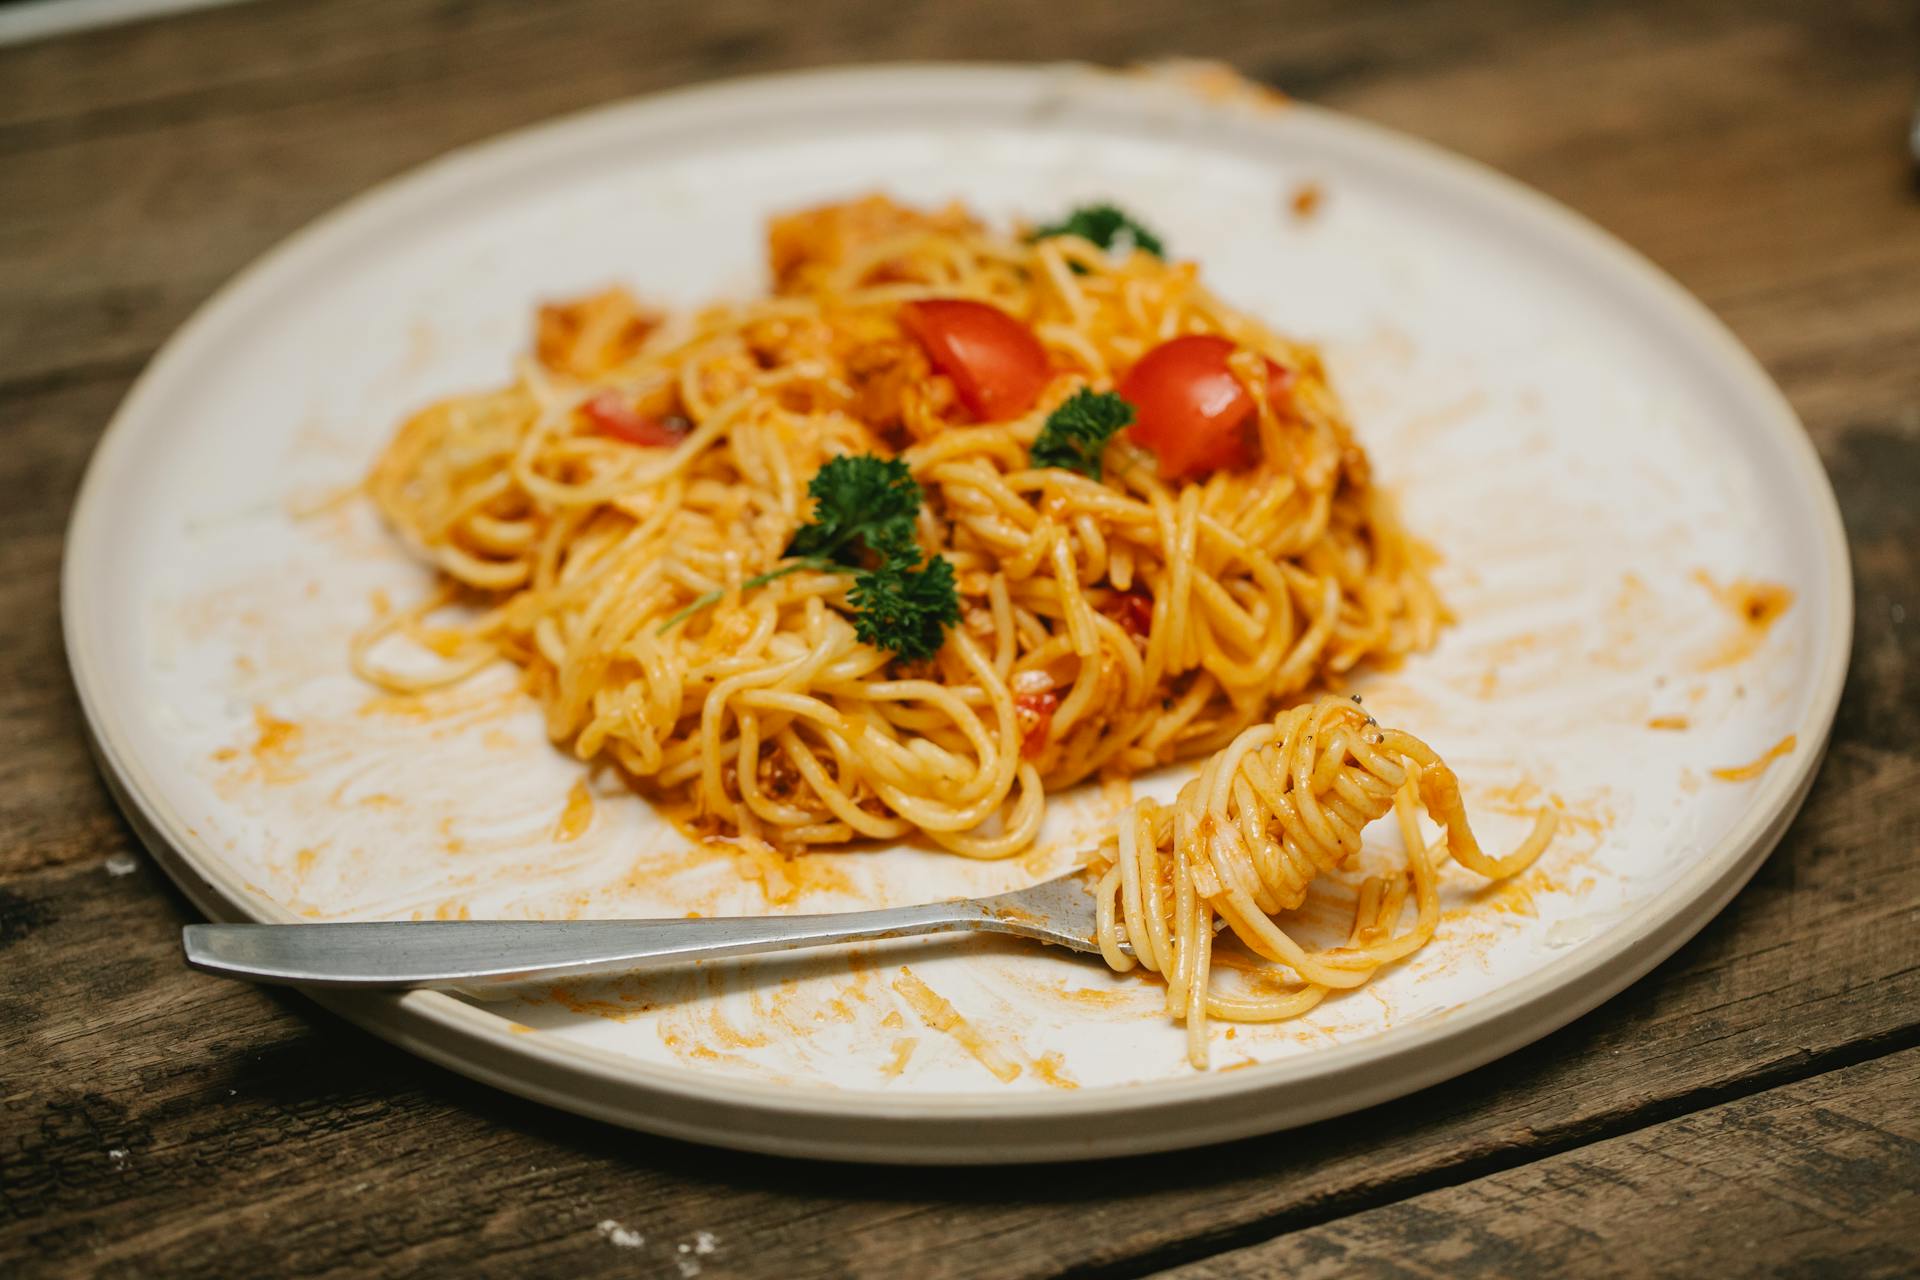
M0 50L0 1272L1920 1270L1920 10L1354 8L261 2ZM56 581L96 434L221 280L369 182L612 98L1169 52L1592 215L1805 416L1853 539L1853 677L1807 810L1718 921L1559 1034L1357 1117L952 1173L609 1130L180 967L192 912L86 756Z

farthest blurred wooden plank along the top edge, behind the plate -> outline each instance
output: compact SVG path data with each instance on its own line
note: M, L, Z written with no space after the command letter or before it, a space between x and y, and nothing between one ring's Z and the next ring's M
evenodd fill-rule
M1791 6L1774 0L1766 8ZM810 21L797 23L783 6L764 0L557 0L538 12L505 0L457 8L434 0L282 4L0 52L0 84L8 86L0 98L0 152L188 117L253 117L296 90L300 100L349 98L371 83L388 83L451 102L476 84L476 73L490 77L486 84L509 104L528 92L593 102L670 84L676 73L685 79L737 65L952 58L1121 63L1181 52L1273 63L1300 81L1298 92L1319 94L1334 79L1507 54L1534 44L1542 31L1551 35L1576 10L1574 0L1482 0L1436 21L1432 13L1363 13L1340 0L1296 0L1275 21L1248 6L1192 13L1139 2L979 0L927 10L828 0L808 8ZM536 90L493 75L503 61L564 75L528 77L551 81Z

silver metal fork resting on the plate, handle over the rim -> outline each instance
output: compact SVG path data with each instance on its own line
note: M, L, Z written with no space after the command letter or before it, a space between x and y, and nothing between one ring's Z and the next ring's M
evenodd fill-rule
M1098 952L1079 871L991 898L835 915L708 919L428 919L315 925L186 925L186 963L290 986L490 986L588 979L687 960L756 956L922 933L1010 933Z

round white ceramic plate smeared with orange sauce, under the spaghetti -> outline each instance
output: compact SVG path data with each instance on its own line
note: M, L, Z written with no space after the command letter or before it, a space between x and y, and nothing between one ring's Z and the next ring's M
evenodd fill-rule
M1306 219L1304 184L1323 194ZM1670 954L1778 841L1845 672L1845 543L1793 413L1707 311L1494 173L1217 79L891 67L697 88L455 154L290 240L154 361L86 476L65 628L106 771L202 910L849 910L1066 865L1117 796L1060 798L1010 864L735 862L549 747L505 672L394 702L346 670L374 595L426 587L365 503L324 501L403 413L505 380L540 299L612 280L670 303L749 294L770 213L876 188L993 217L1116 198L1229 299L1325 344L1461 618L1369 677L1369 706L1452 760L1488 844L1542 794L1567 833L1515 885L1452 877L1434 944L1359 994L1215 1027L1212 1073L1183 1063L1158 988L979 938L332 1007L503 1088L703 1142L876 1161L1150 1151L1513 1050ZM1795 603L1749 635L1705 580ZM1757 779L1709 773L1789 733ZM899 965L1021 1075L1002 1084L920 1025Z

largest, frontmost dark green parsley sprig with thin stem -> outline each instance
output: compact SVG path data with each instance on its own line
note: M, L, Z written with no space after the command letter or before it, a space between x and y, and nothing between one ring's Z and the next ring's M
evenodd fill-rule
M954 566L941 557L920 564L914 518L920 486L906 462L874 455L837 457L822 466L806 493L814 518L787 543L789 560L755 574L741 587L764 587L803 568L852 574L847 603L854 606L852 629L868 645L902 658L931 658L960 622ZM668 631L720 599L708 591L660 624Z

